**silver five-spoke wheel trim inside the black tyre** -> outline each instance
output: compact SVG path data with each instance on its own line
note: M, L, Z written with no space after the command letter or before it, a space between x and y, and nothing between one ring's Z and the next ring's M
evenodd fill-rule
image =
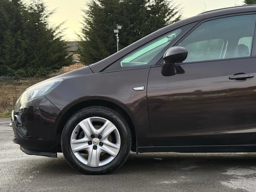
M102 126L95 128L94 122L96 122L97 127ZM82 138L79 138L80 135ZM94 137L91 137L92 135ZM109 140L109 138L111 139ZM119 153L120 145L120 134L116 126L102 117L89 117L82 120L75 127L70 138L70 146L75 157L90 167L104 166L113 161ZM101 155L104 155L102 160Z

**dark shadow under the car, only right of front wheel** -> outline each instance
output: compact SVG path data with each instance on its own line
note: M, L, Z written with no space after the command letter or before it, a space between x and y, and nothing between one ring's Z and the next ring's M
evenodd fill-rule
M216 167L255 166L256 153L148 153L130 154L123 169L133 171L188 170L192 167L216 169Z

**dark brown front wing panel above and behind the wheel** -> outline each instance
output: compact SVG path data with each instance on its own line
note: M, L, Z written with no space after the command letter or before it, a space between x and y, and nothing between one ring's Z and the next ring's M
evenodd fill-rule
M131 117L134 127L136 127L137 145L152 145L146 104L149 69L148 67L119 72L93 73L66 79L46 97L62 113L65 113L73 105L84 101L99 99L112 102L120 106ZM140 86L145 86L145 90L133 90L134 87Z

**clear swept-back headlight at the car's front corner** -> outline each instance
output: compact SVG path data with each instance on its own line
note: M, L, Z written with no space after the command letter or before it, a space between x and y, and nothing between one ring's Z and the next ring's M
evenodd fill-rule
M27 90L24 91L24 93L20 97L20 103L24 104L27 101L30 101L32 99L41 97L43 95L46 95L50 91L52 91L55 87L57 87L63 79L56 79L52 81L46 81L39 84L36 84Z

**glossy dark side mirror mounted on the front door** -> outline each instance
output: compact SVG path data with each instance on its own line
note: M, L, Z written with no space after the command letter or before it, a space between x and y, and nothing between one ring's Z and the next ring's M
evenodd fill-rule
M187 58L187 49L185 47L171 47L163 56L162 75L172 76L177 73L175 63L184 61Z

